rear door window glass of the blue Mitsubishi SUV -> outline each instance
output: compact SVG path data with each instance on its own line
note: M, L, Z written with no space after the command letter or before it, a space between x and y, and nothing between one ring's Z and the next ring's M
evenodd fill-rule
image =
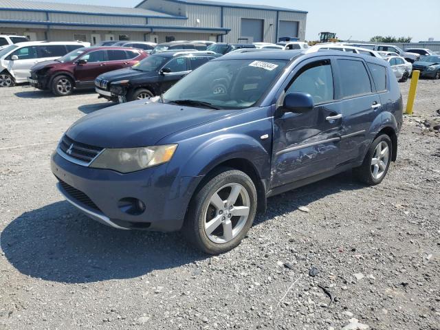
M371 82L362 61L338 60L341 97L371 93Z

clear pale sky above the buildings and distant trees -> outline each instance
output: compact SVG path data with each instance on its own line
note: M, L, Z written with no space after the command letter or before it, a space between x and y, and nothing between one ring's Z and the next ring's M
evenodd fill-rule
M32 0L34 1L34 0ZM140 0L36 0L134 7ZM306 10L306 39L322 31L342 40L369 41L372 36L411 36L413 42L440 41L440 0L221 0Z

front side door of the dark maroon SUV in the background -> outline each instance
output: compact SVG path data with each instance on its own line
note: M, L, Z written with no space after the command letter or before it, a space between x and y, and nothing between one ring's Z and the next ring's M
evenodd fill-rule
M94 80L100 74L109 71L107 69L107 50L94 50L80 57L85 64L76 64L75 78L78 85L87 87L94 86Z

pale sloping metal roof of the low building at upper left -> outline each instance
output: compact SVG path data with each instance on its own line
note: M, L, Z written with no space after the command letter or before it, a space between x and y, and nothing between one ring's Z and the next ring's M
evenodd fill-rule
M100 14L109 16L168 17L173 15L143 8L111 7L108 5L79 5L25 0L0 0L0 10L21 10L39 12L63 12L71 14ZM179 17L180 18L180 17Z

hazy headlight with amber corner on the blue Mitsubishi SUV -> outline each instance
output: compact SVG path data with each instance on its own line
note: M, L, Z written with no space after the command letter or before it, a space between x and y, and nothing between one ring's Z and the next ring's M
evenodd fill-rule
M105 149L90 164L93 168L107 168L120 173L130 173L169 162L177 144L145 146L142 148Z

